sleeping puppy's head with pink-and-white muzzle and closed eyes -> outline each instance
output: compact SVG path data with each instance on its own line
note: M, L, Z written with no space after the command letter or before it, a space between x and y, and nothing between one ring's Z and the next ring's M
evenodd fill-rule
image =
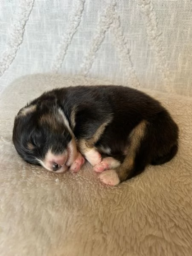
M77 155L76 142L61 108L51 102L27 105L15 117L13 143L28 163L64 172Z

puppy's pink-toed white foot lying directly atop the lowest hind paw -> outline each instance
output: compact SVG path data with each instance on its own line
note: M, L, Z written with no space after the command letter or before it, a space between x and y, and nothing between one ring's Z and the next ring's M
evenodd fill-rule
M93 170L95 172L103 172L109 169L116 169L120 164L121 163L113 157L105 157L100 164L94 166Z

